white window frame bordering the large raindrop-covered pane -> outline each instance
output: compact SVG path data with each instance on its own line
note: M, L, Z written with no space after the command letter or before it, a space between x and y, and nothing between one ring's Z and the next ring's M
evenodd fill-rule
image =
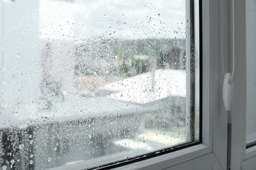
M202 144L116 169L226 169L228 117L221 103L219 7L218 1L202 1Z

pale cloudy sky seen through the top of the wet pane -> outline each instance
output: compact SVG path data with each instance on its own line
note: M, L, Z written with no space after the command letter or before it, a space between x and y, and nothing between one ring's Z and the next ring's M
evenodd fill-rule
M42 38L185 38L185 0L39 0Z

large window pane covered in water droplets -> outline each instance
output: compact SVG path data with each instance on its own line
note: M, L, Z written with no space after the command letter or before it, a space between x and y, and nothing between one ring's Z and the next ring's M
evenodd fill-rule
M0 169L86 169L199 141L196 1L0 9Z

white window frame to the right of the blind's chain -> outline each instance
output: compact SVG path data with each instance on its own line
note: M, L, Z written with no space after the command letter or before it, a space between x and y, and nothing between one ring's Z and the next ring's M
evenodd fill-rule
M231 169L256 169L256 146L246 148L246 16L245 0L235 3L235 97L232 114Z

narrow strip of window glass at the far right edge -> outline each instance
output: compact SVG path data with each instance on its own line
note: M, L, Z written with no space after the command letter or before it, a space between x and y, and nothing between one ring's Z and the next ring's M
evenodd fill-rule
M246 7L246 143L256 144L256 2L245 1Z

